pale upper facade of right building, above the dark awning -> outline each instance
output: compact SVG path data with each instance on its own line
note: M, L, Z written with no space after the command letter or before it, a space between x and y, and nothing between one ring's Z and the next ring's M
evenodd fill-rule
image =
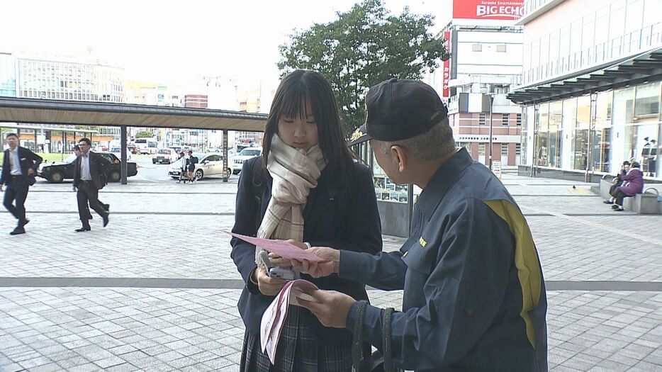
M546 0L524 2L524 14ZM559 25L524 43L523 84L617 60L662 45L662 0L576 1ZM583 11L583 9L586 9Z

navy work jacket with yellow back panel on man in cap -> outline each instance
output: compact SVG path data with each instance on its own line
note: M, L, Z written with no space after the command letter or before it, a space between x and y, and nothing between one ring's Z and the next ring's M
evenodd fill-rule
M515 200L466 149L442 164L415 205L399 252L340 253L340 276L403 289L391 320L393 363L415 371L547 371L542 269ZM381 349L383 310L362 331ZM357 304L347 328L357 322Z

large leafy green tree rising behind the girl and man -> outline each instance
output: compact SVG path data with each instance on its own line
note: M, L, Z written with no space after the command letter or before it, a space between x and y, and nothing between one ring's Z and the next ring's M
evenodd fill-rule
M281 45L278 67L284 76L294 69L319 72L331 84L347 133L364 123L364 97L380 81L420 79L450 56L444 40L428 30L431 15L417 16L405 8L393 16L382 0L363 0L330 23L315 23L290 35Z

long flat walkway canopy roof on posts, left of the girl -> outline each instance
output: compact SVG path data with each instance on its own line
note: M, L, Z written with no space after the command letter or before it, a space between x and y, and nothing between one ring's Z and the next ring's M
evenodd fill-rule
M262 132L267 124L267 114L207 108L0 97L0 122Z

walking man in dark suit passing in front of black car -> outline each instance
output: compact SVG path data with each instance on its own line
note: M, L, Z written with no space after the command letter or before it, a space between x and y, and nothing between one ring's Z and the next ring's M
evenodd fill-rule
M81 138L78 145L81 150L81 156L76 160L74 170L74 191L77 191L78 215L82 222L82 227L76 229L76 232L91 230L89 225L89 210L94 209L103 218L103 227L108 225L108 212L99 204L99 189L106 186L106 172L110 167L110 162L90 151L91 141L89 138Z

